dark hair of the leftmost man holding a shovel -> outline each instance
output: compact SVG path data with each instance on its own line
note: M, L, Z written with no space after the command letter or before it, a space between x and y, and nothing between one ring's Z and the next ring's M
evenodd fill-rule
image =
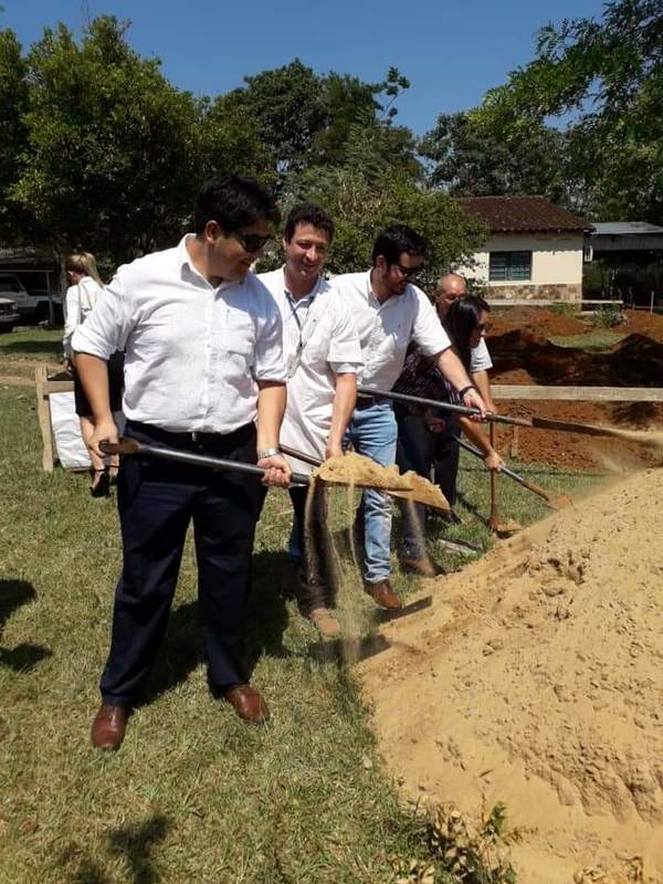
M278 221L272 193L239 175L214 175L202 186L193 207L193 230L202 233L208 221L217 221L224 233L251 227L256 221Z

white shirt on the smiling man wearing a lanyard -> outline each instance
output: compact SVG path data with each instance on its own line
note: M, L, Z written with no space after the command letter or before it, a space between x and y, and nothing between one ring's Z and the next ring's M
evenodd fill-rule
M291 367L287 406L281 425L281 442L324 460L336 375L357 372L362 364L359 336L348 305L324 278L298 301L285 285L283 267L257 277L278 305L283 322L285 362ZM290 459L299 472L311 466Z

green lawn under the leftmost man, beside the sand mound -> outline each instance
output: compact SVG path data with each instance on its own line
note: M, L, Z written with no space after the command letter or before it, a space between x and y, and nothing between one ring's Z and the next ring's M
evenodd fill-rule
M7 336L0 375L7 358L53 359L57 341ZM92 749L119 562L114 501L92 499L86 476L41 472L29 388L0 380L0 882L375 884L393 881L390 856L424 856L423 821L382 770L352 672L312 653L315 631L276 592L285 493L267 496L250 610L253 682L270 724L242 724L208 692L189 545L145 703L119 753ZM556 491L594 481L528 473ZM485 473L464 461L460 482L453 536L486 548ZM501 492L523 524L548 512L515 483ZM433 552L457 568L440 538ZM406 596L415 583L396 579Z

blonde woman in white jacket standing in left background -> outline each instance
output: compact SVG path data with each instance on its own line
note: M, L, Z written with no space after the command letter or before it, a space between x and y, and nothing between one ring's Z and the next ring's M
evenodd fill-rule
M91 313L97 297L103 297L104 284L99 277L95 257L90 252L78 252L77 254L70 255L65 262L65 270L71 285L66 291L65 301L64 336L62 339L64 358L69 370L74 376L76 414L81 422L81 435L87 446L92 463L92 484L90 486L90 493L93 497L106 497L117 475L118 460L117 456L110 457L109 467L106 469L104 461L90 449L90 440L94 432L92 409L81 381L78 380L75 366L73 365L71 346L72 335L76 326L85 322L85 317ZM115 357L112 357L108 364L108 372L110 379L110 408L113 411L119 411L122 409L123 388L120 354L116 354Z

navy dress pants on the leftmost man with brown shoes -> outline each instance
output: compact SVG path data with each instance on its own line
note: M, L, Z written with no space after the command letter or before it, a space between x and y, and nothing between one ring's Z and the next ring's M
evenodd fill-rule
M253 424L194 440L191 433L129 421L125 434L225 460L256 459ZM148 456L123 457L117 504L124 565L101 683L105 703L129 706L145 684L166 630L191 522L210 685L224 690L248 681L243 633L260 503L260 477Z

